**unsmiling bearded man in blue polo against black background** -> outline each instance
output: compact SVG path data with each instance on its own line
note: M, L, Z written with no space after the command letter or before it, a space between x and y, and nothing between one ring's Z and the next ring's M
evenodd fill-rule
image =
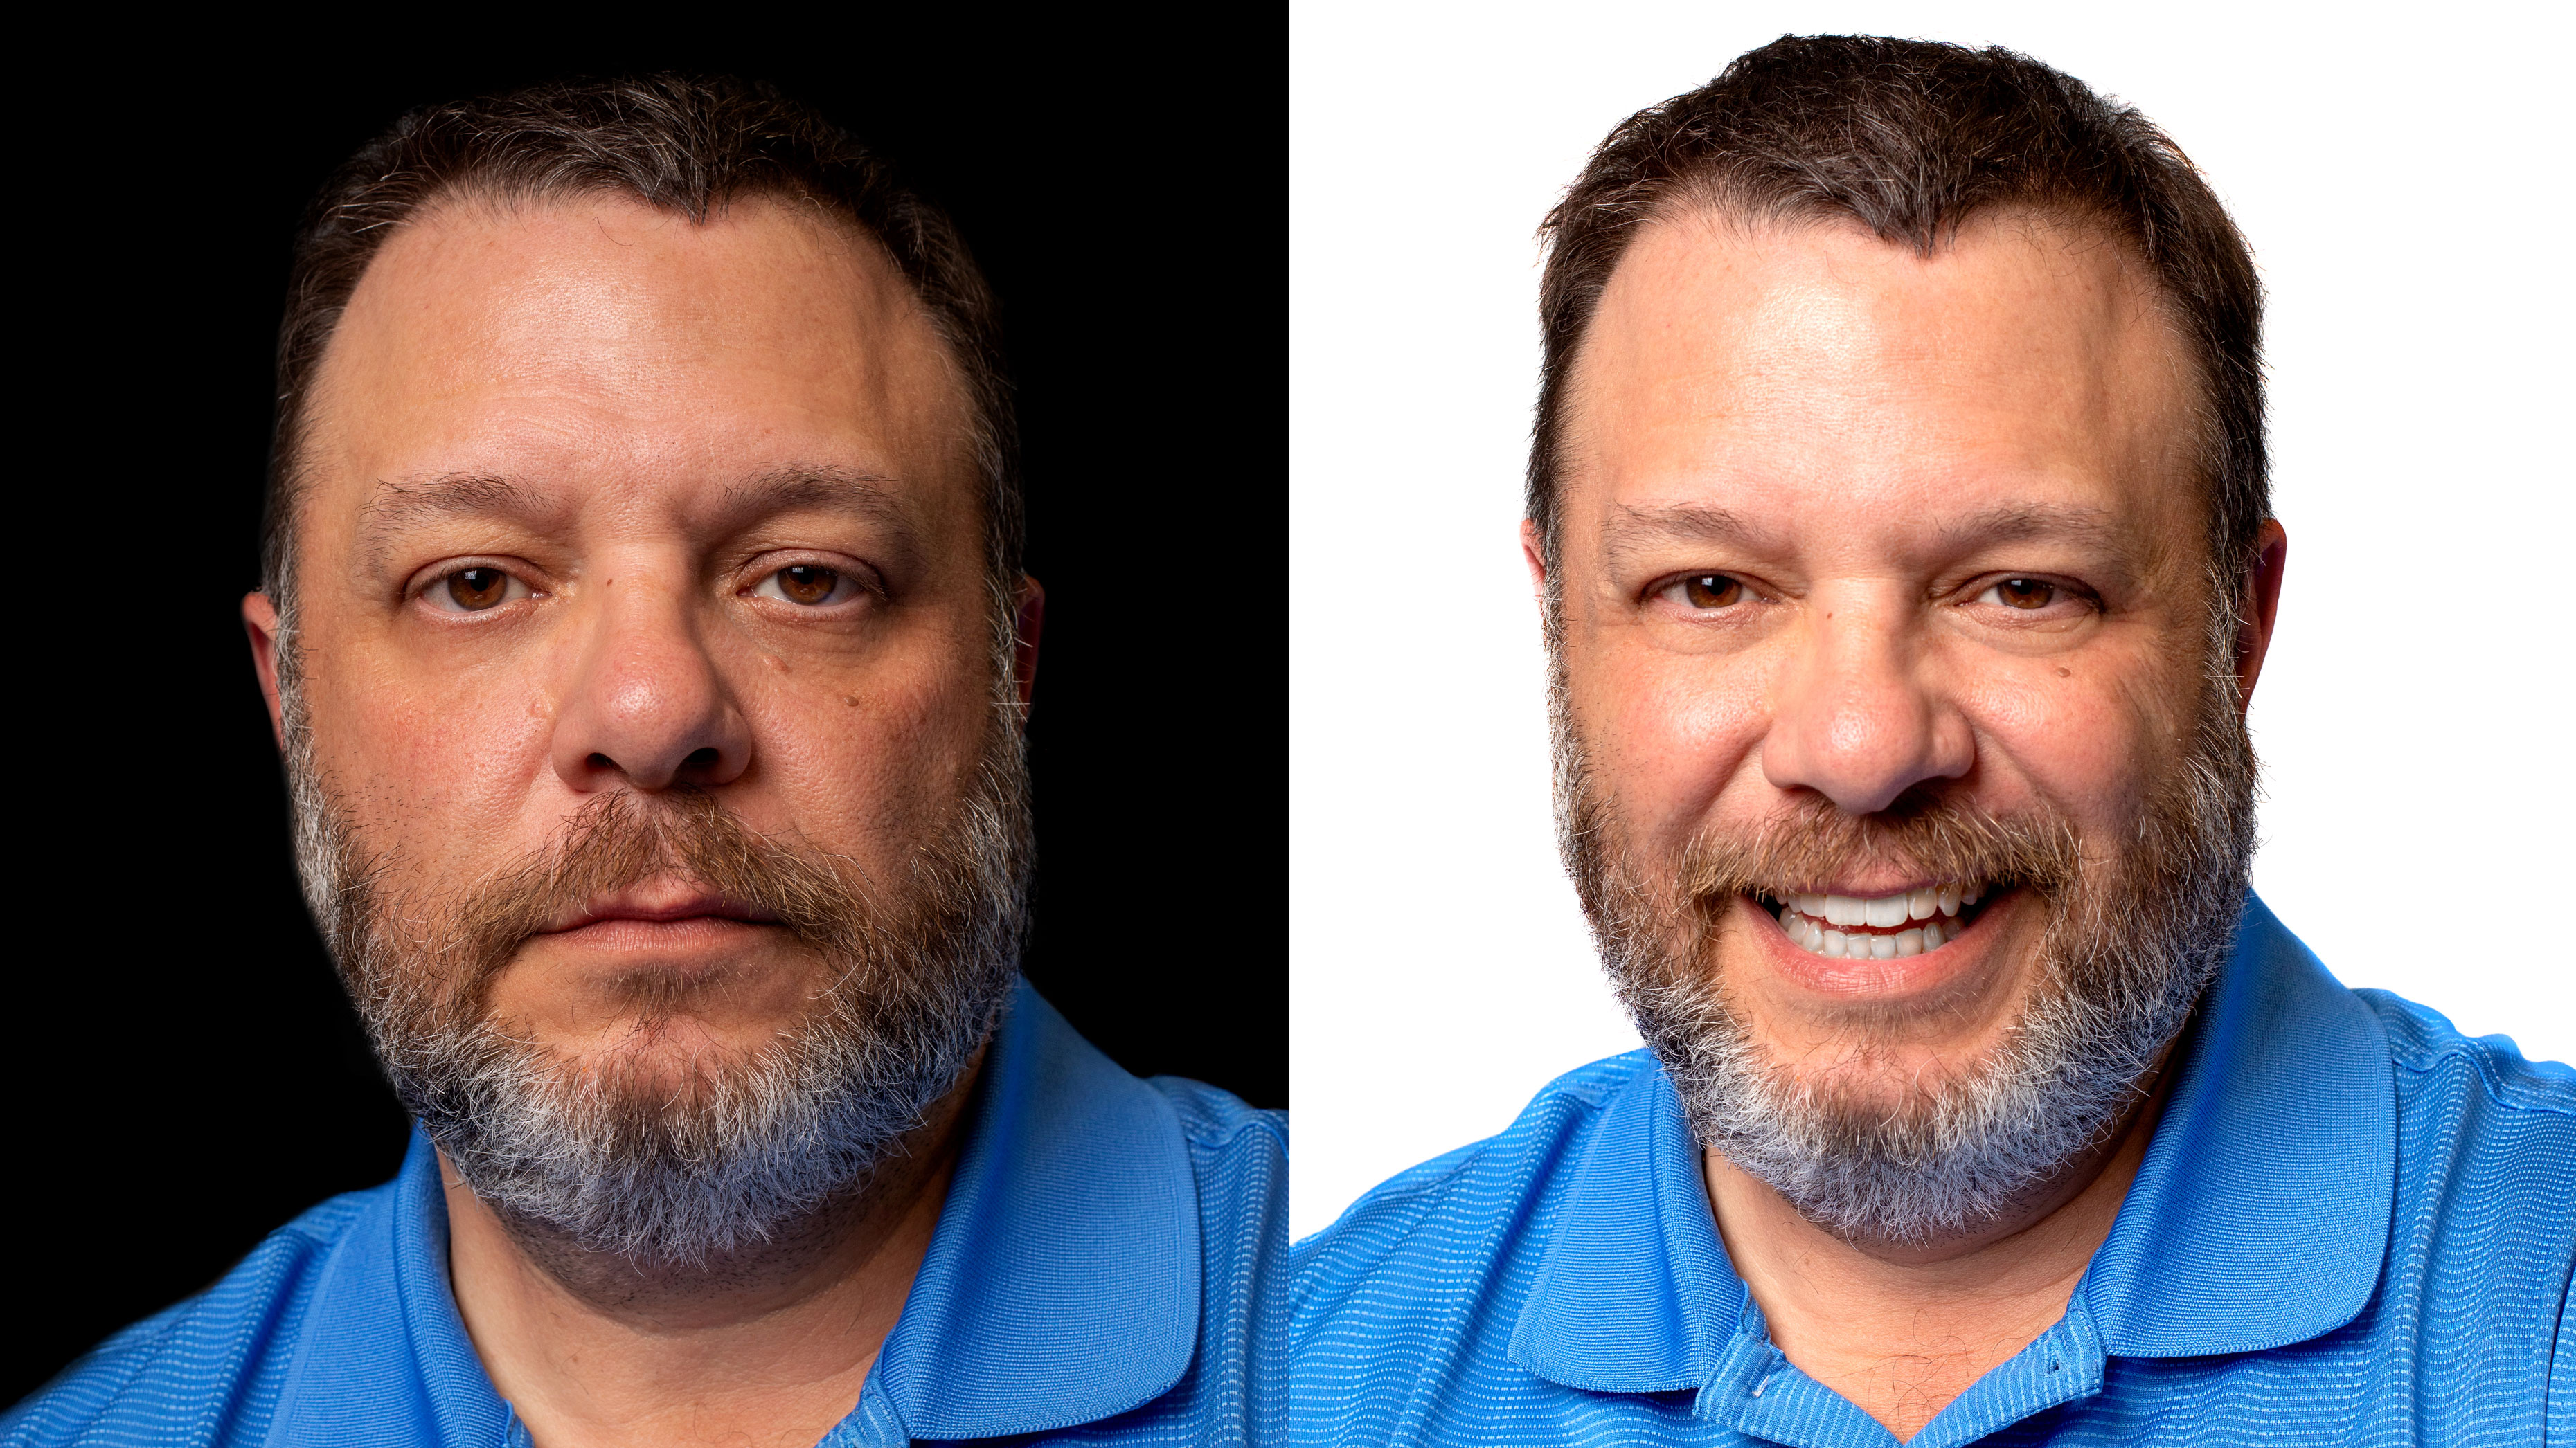
M325 188L242 616L420 1129L8 1443L1247 1443L1283 1121L1018 979L992 299L757 88L404 119Z

